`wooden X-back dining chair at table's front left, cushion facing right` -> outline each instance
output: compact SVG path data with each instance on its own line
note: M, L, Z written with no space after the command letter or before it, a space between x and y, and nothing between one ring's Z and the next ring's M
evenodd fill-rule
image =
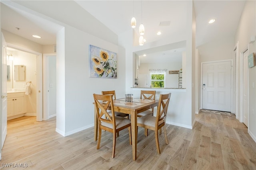
M97 149L100 149L100 139L102 130L106 130L113 133L112 158L114 158L116 150L116 133L123 129L128 128L130 145L132 145L131 121L130 119L126 119L124 117L115 116L112 95L93 94L93 97L96 105L96 113L99 125ZM111 107L112 116L109 115L108 107Z

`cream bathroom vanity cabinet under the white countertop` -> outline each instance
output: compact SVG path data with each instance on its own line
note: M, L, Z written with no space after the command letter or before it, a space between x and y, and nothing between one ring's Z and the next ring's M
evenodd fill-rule
M25 92L7 93L7 117L26 113ZM16 118L16 117L14 117Z

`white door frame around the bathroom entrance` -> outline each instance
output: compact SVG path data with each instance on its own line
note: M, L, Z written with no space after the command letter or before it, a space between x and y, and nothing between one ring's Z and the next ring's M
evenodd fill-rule
M42 53L25 49L16 45L7 43L7 47L24 51L27 53L32 53L36 55L36 121L43 120L43 76L42 76Z

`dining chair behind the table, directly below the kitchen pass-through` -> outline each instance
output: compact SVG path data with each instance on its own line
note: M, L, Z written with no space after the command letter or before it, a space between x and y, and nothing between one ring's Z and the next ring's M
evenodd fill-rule
M141 90L140 91L140 99L149 99L149 100L155 100L156 91L152 90ZM137 117L142 117L145 115L154 115L154 108L148 109L146 111L142 111L137 114Z

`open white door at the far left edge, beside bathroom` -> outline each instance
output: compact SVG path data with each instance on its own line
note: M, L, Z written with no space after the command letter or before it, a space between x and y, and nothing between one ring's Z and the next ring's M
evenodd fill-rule
M7 89L6 89L6 82L7 82L7 66L6 66L6 51L7 45L4 40L4 35L1 33L1 48L2 48L2 55L1 55L1 150L4 145L4 141L7 134Z

